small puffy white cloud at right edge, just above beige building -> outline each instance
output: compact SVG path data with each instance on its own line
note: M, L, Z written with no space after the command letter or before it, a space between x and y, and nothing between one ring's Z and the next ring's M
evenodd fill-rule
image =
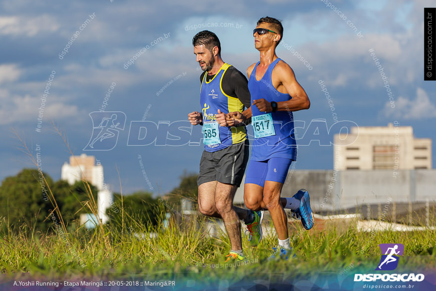
M400 96L395 101L394 108L391 108L390 103L386 102L382 114L386 117L404 119L434 118L436 117L436 106L431 102L426 91L418 88L415 100Z

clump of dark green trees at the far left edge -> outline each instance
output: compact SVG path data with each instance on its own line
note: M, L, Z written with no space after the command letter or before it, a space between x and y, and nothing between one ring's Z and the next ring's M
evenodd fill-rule
M90 188L97 203L97 190L93 185ZM83 182L78 181L74 185L63 180L53 182L49 175L37 169L23 169L1 182L0 217L7 217L12 228L24 224L42 232L50 230L54 227L50 218L46 220L54 209L50 190L66 225L77 220L80 213L90 212L89 208L81 209L81 202L90 200ZM57 222L60 223L60 220L57 219Z

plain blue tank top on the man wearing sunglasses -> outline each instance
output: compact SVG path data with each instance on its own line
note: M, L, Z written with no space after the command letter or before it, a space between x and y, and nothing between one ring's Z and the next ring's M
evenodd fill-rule
M264 98L268 102L288 101L292 99L289 94L278 92L272 85L272 69L280 58L274 60L269 66L261 80L256 80L256 63L248 80L248 89L253 100ZM273 157L297 160L297 145L294 136L294 117L292 112L276 111L270 113L260 112L256 105L251 106L253 116L271 114L274 126L274 135L254 138L251 151L251 159L254 161L266 161Z

